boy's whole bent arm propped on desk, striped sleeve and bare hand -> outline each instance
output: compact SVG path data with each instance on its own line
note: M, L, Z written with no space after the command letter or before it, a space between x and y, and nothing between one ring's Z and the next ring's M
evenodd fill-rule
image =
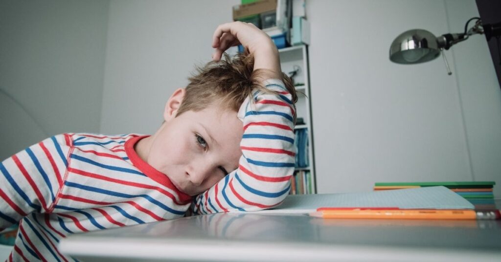
M244 133L239 167L196 198L196 213L255 211L280 204L289 194L294 173L294 105L282 78L279 53L268 35L252 24L224 24L214 33L214 60L231 45L241 43L255 57L263 86L239 112Z

